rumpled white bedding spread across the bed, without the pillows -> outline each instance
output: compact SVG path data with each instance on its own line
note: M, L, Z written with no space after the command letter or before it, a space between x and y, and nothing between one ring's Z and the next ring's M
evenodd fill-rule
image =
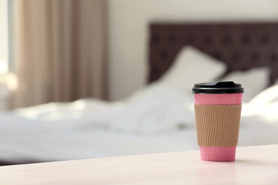
M269 94L272 100L264 100ZM155 83L122 102L83 99L2 112L0 160L48 162L198 149L193 103L193 95ZM239 146L278 144L277 107L278 88L243 105Z

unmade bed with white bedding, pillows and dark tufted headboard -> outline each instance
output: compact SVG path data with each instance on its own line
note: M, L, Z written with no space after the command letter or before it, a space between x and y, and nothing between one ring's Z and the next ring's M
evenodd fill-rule
M130 97L1 112L1 165L198 149L200 80L246 88L238 146L278 144L278 23L150 23L149 33L148 83Z

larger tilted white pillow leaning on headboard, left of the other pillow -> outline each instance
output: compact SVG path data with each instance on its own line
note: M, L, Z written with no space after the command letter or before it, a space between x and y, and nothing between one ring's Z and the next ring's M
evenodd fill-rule
M226 68L225 63L192 46L186 46L180 50L171 68L160 78L160 83L191 93L195 83L212 82L225 73Z

